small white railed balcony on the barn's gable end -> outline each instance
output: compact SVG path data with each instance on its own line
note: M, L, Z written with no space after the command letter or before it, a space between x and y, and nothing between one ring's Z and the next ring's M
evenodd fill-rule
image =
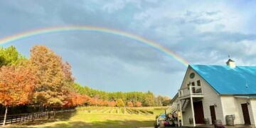
M203 95L202 87L189 86L178 90L178 97L186 97L190 95Z

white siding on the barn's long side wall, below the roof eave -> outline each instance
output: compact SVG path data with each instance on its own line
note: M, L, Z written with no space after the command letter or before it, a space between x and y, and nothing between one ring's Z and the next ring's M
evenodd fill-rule
M223 104L223 118L226 115L235 114L235 124L245 124L242 114L242 106L241 104L245 104L249 102L247 98L238 98L234 96L221 96L221 102ZM254 101L248 105L248 110L250 114L250 122L251 124L255 124L254 114L252 113L252 106L255 105ZM256 105L255 105L256 106Z

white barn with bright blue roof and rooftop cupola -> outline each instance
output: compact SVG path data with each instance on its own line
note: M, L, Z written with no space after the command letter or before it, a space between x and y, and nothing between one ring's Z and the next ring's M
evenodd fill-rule
M178 95L181 125L210 124L233 115L234 124L256 126L256 66L188 65Z

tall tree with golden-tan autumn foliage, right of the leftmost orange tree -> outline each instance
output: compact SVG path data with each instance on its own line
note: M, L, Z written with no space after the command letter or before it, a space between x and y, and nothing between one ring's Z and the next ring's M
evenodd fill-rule
M46 107L64 105L63 85L66 79L60 56L46 46L33 46L30 65L38 80L35 87L36 98L34 102Z

